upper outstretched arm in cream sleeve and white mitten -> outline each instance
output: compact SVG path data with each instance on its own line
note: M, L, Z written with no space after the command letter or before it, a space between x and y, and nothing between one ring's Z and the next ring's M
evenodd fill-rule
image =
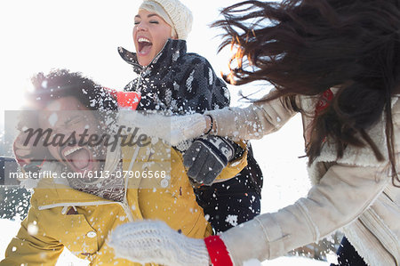
M164 117L141 115L137 112L120 114L120 125L137 126L142 133L155 136L176 146L181 141L196 139L204 133L212 133L234 140L260 139L281 128L296 114L280 99L240 108L207 111L205 115ZM213 123L211 124L212 117ZM210 126L212 125L212 131Z

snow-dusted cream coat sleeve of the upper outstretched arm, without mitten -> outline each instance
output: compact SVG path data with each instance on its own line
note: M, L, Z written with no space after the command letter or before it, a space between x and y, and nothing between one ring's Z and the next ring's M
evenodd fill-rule
M207 111L217 126L217 135L233 140L260 139L268 133L276 132L296 112L289 101L254 103L247 108L224 108Z

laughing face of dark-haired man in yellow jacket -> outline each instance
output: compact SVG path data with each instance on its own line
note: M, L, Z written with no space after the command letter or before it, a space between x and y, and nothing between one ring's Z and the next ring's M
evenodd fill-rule
M90 136L99 132L100 125L97 121L93 112L84 107L76 97L68 96L51 101L44 109L43 116L39 118L39 125L44 130L52 129L51 140L56 140L57 134L60 134L64 135L64 141L67 141L71 134L75 134L75 142L70 141L68 145L63 146L50 145L47 148L52 157L67 165L70 170L84 173L100 170L100 162L104 159L104 149L98 147L101 145L78 145L80 135ZM84 141L87 141L87 137Z

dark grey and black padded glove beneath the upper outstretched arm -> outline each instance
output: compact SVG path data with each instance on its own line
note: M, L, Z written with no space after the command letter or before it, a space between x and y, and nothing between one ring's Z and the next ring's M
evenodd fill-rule
M183 156L188 177L211 185L235 155L235 148L225 138L206 135L196 139Z

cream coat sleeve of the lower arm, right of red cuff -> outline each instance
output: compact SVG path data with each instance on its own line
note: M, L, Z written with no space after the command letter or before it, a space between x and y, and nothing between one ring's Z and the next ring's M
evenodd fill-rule
M387 167L333 165L320 183L273 214L261 214L221 238L235 265L274 259L356 220L388 185Z

